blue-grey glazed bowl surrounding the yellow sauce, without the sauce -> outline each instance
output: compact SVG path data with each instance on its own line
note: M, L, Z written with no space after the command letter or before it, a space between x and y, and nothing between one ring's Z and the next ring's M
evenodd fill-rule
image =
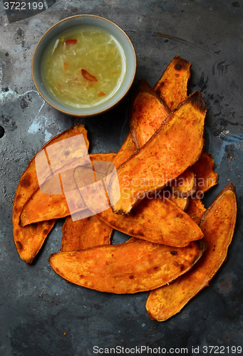
M125 55L125 77L123 78L123 82L121 83L120 88L105 103L101 103L100 105L97 105L93 108L71 108L65 105L64 103L61 103L48 90L46 83L43 80L43 76L41 75L41 63L43 59L43 53L45 52L49 43L51 43L51 41L53 41L56 36L59 36L60 33L68 31L76 26L93 26L101 28L104 31L110 33L113 37L115 37L116 41L120 43L120 46L123 48ZM137 61L133 43L130 41L130 38L123 31L122 28L120 28L113 21L110 21L100 16L77 15L68 17L67 19L55 23L55 25L51 26L51 28L49 28L48 31L43 34L40 41L38 41L36 49L33 53L31 70L33 83L36 85L38 93L46 101L46 103L66 115L76 117L89 117L100 115L120 103L120 100L125 97L125 95L128 93L128 90L130 90L131 85L133 84L136 67Z

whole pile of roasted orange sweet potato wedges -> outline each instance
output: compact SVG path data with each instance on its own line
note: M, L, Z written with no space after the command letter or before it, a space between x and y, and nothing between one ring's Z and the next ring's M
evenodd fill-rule
M14 198L14 242L26 263L36 257L56 219L66 217L61 252L49 258L53 270L66 281L103 292L150 290L146 308L157 321L178 313L208 286L227 257L237 216L231 183L207 210L202 204L217 184L217 173L212 155L203 152L205 101L199 92L187 96L190 68L176 56L154 88L138 82L123 146L118 153L89 155L96 167L113 162L113 174L102 168L93 172L78 158L78 148L71 147L65 154L54 152L59 168L52 172L53 181L45 181L43 172L39 184L36 157L44 167L40 152L77 135L83 135L88 150L87 131L76 124L31 159ZM68 191L75 192L72 211L63 191L50 193L61 174ZM95 186L82 189L95 174ZM100 198L109 201L108 209L95 206ZM113 229L131 238L112 245Z

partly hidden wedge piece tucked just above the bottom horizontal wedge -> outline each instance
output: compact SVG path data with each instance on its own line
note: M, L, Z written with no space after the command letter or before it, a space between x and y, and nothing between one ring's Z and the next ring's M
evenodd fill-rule
M113 228L93 215L73 221L71 216L63 224L61 252L84 250L93 246L109 245Z

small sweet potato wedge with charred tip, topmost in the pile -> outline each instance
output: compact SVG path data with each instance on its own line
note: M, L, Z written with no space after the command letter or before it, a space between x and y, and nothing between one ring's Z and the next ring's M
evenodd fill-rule
M155 92L173 110L187 98L191 64L180 56L175 56L154 86Z

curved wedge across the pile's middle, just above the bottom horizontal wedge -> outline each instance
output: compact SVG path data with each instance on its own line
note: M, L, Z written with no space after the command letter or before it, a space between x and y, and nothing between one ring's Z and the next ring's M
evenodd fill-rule
M190 241L202 239L202 231L195 221L162 194L161 199L144 199L132 214L114 214L101 181L84 187L87 170L87 167L75 169L77 187L88 209L109 226L129 236L170 246L187 246Z

